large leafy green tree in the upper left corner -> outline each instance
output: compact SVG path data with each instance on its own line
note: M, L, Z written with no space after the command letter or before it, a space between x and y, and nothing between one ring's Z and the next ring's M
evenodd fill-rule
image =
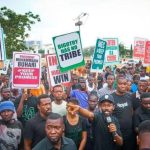
M5 47L8 58L12 57L13 51L26 49L25 39L31 30L31 25L40 21L39 15L32 12L17 14L7 7L0 8L0 24L5 33Z

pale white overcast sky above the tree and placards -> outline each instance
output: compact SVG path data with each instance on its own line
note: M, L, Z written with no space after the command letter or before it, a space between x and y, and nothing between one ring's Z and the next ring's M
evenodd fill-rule
M17 13L38 14L41 22L32 26L28 40L52 42L52 37L78 31L80 20L83 47L94 46L97 38L119 38L130 47L134 37L150 39L150 0L0 0Z

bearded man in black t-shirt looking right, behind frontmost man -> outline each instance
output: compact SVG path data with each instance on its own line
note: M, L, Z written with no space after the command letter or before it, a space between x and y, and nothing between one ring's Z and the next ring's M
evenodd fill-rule
M37 100L38 113L27 121L24 132L25 150L31 150L45 136L46 118L51 112L51 99L48 95L42 94Z

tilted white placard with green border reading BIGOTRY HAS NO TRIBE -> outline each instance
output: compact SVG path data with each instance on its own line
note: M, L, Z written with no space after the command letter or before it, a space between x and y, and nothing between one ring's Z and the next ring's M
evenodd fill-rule
M61 72L85 65L79 31L53 37L53 43Z

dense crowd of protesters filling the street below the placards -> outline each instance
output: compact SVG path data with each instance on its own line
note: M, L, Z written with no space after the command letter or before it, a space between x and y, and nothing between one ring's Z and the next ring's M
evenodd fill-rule
M141 62L89 68L67 87L50 87L46 67L39 89L13 89L11 71L1 75L0 150L150 149L150 73Z

